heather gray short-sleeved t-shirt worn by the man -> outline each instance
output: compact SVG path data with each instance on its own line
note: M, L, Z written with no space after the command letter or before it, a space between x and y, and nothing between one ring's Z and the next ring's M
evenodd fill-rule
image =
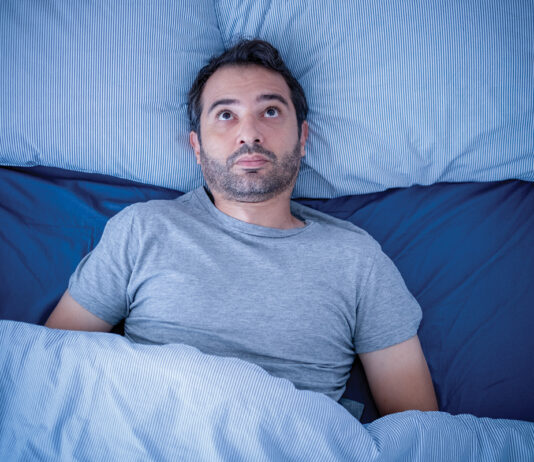
M186 343L338 400L355 353L417 333L421 309L378 243L298 203L302 228L219 211L204 188L125 208L78 265L71 296L141 343Z

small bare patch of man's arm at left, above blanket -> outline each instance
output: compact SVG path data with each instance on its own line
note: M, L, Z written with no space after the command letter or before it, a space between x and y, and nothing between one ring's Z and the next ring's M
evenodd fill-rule
M53 329L98 332L110 332L113 328L111 324L87 311L71 297L68 290L50 314L45 326Z

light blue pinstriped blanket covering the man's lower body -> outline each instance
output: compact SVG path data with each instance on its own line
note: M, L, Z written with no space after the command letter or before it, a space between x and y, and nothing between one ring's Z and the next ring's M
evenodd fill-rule
M534 423L325 395L187 345L0 321L0 460L532 461Z

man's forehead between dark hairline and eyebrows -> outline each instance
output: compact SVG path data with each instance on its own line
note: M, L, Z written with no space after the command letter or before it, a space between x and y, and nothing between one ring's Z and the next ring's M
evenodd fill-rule
M207 80L202 92L202 107L209 109L216 100L241 102L277 99L290 101L289 87L277 72L258 65L228 65L217 69ZM281 101L282 102L282 101ZM206 106L207 105L207 106Z

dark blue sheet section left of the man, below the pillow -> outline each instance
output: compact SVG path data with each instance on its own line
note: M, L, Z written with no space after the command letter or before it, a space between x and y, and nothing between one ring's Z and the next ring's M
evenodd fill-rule
M111 216L179 194L50 167L0 168L0 319L44 323Z

